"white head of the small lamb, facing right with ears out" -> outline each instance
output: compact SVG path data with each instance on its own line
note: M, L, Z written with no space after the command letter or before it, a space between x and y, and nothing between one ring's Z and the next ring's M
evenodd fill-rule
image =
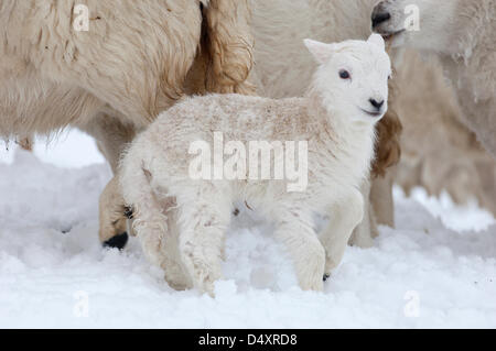
M337 44L305 40L305 45L320 64L312 90L330 112L368 123L384 117L391 62L380 35Z

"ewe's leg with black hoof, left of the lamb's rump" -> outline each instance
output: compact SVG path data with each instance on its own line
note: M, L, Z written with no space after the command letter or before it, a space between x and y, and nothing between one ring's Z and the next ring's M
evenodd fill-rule
M79 127L98 142L98 147L117 173L119 157L125 146L132 141L136 130L118 118L100 116ZM120 194L117 176L110 180L99 201L99 238L106 246L122 249L128 241L125 201Z

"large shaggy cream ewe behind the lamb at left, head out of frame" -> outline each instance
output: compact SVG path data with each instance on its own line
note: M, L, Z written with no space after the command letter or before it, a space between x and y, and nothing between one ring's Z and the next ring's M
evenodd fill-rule
M89 9L87 32L75 4ZM185 92L255 91L249 15L245 0L0 1L0 138L78 127L116 169L136 130ZM114 189L104 241L126 230Z

